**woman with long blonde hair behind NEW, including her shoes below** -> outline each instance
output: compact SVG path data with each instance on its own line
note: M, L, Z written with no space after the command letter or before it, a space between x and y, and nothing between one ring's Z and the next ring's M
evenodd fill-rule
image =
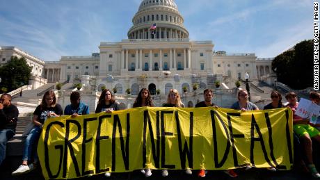
M184 108L184 104L181 101L181 97L179 95L178 90L170 89L166 104L163 104L162 106L163 107ZM168 173L168 170L162 170L161 174L163 177L168 177L169 173ZM187 169L186 174L192 174L192 171L190 169Z

